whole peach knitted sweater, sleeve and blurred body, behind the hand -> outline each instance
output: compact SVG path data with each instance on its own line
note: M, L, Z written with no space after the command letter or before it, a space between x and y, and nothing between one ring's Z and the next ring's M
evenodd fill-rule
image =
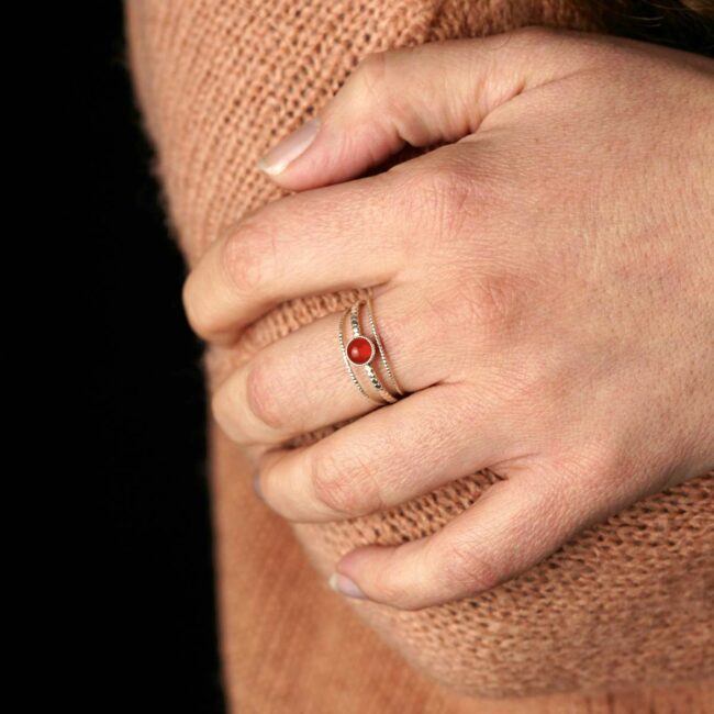
M130 0L131 70L187 266L223 224L283 193L256 160L319 111L366 53L525 24L601 29L574 0ZM290 300L235 347L209 347L208 388L362 294ZM471 711L462 696L714 677L714 472L627 507L489 592L403 612L345 602L324 579L357 545L436 532L497 475L367 517L295 525L253 498L250 465L210 428L224 674L242 712L460 712Z

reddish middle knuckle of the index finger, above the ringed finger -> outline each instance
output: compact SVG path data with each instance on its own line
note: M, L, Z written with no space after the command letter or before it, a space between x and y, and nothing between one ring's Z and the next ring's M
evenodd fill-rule
M276 231L267 223L246 223L223 242L220 269L238 294L260 288L275 266Z

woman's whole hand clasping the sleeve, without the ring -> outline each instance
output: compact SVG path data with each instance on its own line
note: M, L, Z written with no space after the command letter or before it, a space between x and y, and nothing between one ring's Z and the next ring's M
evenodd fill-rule
M492 588L714 467L713 116L703 57L527 30L371 55L268 154L302 192L208 249L183 292L192 327L230 344L285 300L373 286L411 393L359 393L336 314L260 350L212 406L270 447L266 502L331 521L505 477L428 538L347 554L345 592L413 610Z

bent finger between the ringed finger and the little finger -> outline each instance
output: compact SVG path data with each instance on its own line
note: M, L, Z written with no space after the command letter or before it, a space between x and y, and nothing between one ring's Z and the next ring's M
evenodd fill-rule
M511 436L460 383L382 406L316 444L263 455L265 501L291 521L366 515L507 456Z

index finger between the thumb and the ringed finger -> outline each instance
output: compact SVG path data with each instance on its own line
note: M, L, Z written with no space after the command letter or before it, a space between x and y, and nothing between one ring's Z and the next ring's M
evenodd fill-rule
M383 175L288 196L226 231L183 285L193 331L230 343L286 300L389 281L414 249L390 187Z

